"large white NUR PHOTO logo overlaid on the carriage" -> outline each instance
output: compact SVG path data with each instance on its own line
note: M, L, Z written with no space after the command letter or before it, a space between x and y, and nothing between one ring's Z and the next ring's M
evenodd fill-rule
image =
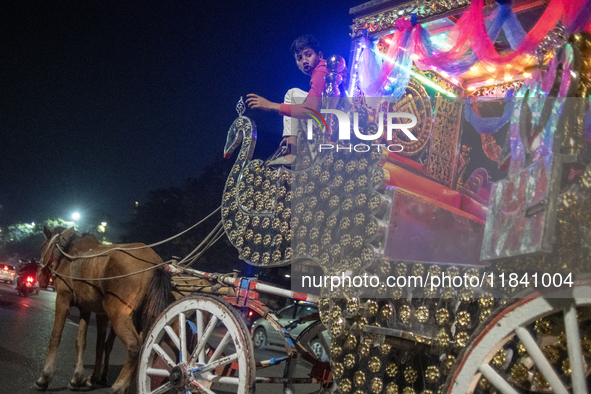
M349 141L351 140L351 122L349 121L349 115L343 111L338 109L321 109L320 113L318 111L313 110L312 108L306 108L313 113L310 113L310 117L318 123L318 125L326 130L328 130L328 124L324 119L322 114L333 114L336 116L339 124L339 140L341 141ZM313 123L312 119L308 119L308 130L307 136L308 140L312 140L313 136ZM409 123L394 123L394 120L399 121L400 119L410 119ZM322 122L321 122L322 121ZM375 141L381 138L384 134L384 113L380 112L378 115L378 130L374 134L363 134L359 130L359 114L355 112L353 114L353 133L355 136L362 140L362 141ZM392 134L394 130L401 130L404 135L408 137L411 141L416 141L417 137L415 137L410 129L416 126L417 124L417 117L413 114L409 114L406 112L388 112L386 117L386 140L392 141ZM330 150L336 149L339 150L353 150L355 152L368 152L372 147L376 149L388 149L389 152L401 152L403 150L403 146L400 144L356 144L349 146L338 146L333 144L320 144L318 150Z

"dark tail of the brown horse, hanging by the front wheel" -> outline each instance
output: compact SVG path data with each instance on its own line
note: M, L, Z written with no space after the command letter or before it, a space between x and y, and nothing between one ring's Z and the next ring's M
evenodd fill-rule
M148 283L140 313L136 314L141 319L139 322L136 320L136 327L143 332L144 338L147 336L148 330L156 323L160 314L173 301L170 272L165 271L163 268L156 268L154 276Z

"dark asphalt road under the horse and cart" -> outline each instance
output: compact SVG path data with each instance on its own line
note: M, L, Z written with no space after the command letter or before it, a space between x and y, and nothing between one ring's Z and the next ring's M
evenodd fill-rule
M33 383L43 369L45 351L51 335L54 318L55 293L42 290L38 295L19 297L12 285L0 283L0 393L38 393ZM57 370L49 386L49 393L71 393L68 383L76 365L75 338L78 330L79 315L72 308L64 327L62 342L58 351ZM216 333L218 336L222 333ZM84 367L87 375L94 368L94 348L96 344L96 324L92 316L88 328L88 342L84 354ZM285 353L280 348L257 350L257 361L282 357ZM117 340L111 355L108 384L117 379L125 361L125 350ZM283 365L261 371L260 376L280 377ZM93 394L110 393L110 388L98 386L84 390ZM311 391L311 390L309 390ZM258 393L281 393L281 385L258 385Z

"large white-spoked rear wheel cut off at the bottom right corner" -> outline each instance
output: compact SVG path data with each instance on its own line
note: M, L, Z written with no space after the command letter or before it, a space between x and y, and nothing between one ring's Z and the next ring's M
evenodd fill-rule
M497 311L458 356L445 392L587 393L590 296L586 281Z

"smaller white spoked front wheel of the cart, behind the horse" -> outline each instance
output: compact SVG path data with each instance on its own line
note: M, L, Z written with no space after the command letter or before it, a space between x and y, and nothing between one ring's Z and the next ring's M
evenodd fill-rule
M208 295L170 305L148 332L138 392L250 394L255 361L248 330L232 306Z

